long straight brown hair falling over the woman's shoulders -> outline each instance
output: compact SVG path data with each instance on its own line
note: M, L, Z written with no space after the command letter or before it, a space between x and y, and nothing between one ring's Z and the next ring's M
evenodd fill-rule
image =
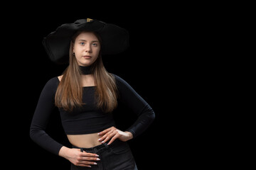
M73 108L85 105L82 103L81 72L73 55L75 38L81 32L76 33L70 42L70 64L63 72L63 77L55 94L55 106L63 108L65 111L73 111ZM97 33L95 35L101 42L100 36ZM92 64L92 72L95 77L97 107L106 113L113 111L117 107L117 85L114 76L105 69L100 54Z

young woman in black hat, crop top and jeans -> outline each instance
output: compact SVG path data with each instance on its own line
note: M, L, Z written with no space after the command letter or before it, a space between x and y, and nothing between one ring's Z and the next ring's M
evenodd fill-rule
M44 86L31 123L31 139L68 159L71 169L137 169L127 141L149 127L154 111L102 63L102 55L126 50L128 37L127 30L113 24L81 19L63 24L43 39L53 62L69 64L62 75ZM138 115L126 131L115 128L112 117L119 102ZM45 131L55 107L73 148L61 145Z

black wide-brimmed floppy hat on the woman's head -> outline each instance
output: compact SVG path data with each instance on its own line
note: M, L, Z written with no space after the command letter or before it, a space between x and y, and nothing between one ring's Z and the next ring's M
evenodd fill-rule
M129 46L129 33L124 28L90 18L79 19L59 26L43 38L43 46L51 61L57 64L68 63L70 42L78 30L93 31L100 35L102 55L114 55Z

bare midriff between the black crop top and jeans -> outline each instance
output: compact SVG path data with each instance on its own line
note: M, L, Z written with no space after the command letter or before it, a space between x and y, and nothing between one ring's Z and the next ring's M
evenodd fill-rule
M75 147L95 147L101 145L102 142L98 141L102 135L97 135L97 133L91 133L86 135L67 135L69 142Z

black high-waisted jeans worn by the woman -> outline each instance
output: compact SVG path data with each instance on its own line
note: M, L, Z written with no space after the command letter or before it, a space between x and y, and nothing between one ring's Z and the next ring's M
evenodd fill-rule
M80 147L75 147L80 148ZM134 157L127 142L114 140L111 145L106 143L91 148L80 148L81 151L98 154L100 161L97 165L90 167L75 166L71 164L71 170L91 169L91 170L137 170Z

